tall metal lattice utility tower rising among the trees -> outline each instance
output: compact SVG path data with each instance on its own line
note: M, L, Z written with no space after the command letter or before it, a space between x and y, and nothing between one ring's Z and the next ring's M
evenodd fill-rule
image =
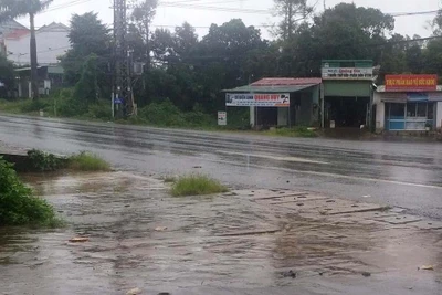
M128 59L128 50L126 42L127 34L127 3L126 0L114 0L114 93L117 104L123 101L123 115L131 115L134 102L131 99L130 85L130 59ZM122 114L120 110L118 110ZM118 114L117 114L118 115Z

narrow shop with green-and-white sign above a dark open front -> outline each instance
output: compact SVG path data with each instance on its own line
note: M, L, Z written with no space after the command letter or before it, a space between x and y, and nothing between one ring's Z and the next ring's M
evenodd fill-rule
M322 126L369 126L372 105L373 63L369 60L324 60Z

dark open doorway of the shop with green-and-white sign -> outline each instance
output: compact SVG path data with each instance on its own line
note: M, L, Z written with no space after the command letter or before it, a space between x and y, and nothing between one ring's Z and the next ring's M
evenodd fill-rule
M370 97L325 97L325 117L329 127L332 120L336 127L359 128L367 124Z

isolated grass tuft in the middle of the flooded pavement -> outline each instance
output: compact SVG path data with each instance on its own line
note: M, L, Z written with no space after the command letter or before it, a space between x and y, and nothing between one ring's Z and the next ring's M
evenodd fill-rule
M227 191L229 191L228 188L218 180L200 175L180 177L171 188L171 193L175 197L203 196Z

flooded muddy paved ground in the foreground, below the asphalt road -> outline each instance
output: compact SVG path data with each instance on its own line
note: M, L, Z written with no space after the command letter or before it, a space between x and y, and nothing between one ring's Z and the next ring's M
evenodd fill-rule
M0 294L442 292L442 222L401 210L299 190L173 198L130 172L25 181L69 225L1 229Z

